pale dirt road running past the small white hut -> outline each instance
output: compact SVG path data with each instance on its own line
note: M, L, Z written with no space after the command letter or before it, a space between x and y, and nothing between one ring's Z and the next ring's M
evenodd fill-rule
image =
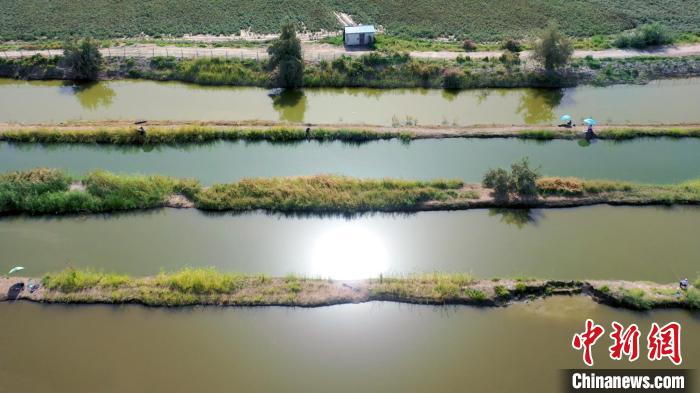
M308 61L332 60L342 55L360 56L368 53L363 50L348 50L341 46L330 44L320 44L317 42L304 42L304 58ZM178 47L178 46L158 46L155 44L138 44L120 47L102 48L100 52L106 57L154 57L154 56L174 56L178 58L197 58L197 57L225 57L225 58L240 58L240 59L266 59L267 51L265 47L254 48L198 48L198 47ZM22 58L36 54L42 56L55 56L61 54L59 49L51 50L21 50L21 51L0 51L0 57L4 58ZM487 51L487 52L410 52L411 57L419 59L433 60L449 60L455 59L457 56L469 56L475 59L485 57L500 56L502 51ZM530 51L522 52L522 58L528 58L532 55ZM677 45L658 47L649 50L639 49L606 49L600 51L592 50L577 50L574 52L574 57L592 56L594 58L627 58L638 56L698 56L700 55L700 44Z

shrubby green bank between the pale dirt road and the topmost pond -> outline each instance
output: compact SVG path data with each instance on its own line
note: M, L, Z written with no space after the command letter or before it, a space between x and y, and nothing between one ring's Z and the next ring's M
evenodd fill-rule
M580 84L645 83L659 78L700 75L700 57L635 57L628 59L575 59L557 73L526 67L517 57L501 56L455 60L423 60L400 53L371 53L310 63L304 69L306 87L426 87L467 89L480 87L566 87ZM0 58L0 77L67 79L60 57ZM103 79L142 78L183 81L202 85L273 85L266 61L225 58L174 57L105 60Z

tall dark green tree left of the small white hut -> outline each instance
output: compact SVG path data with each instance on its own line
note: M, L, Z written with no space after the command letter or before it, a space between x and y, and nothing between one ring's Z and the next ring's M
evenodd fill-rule
M282 34L267 49L270 54L269 66L276 70L277 85L280 87L300 87L304 81L304 60L301 42L297 38L294 25L282 25Z

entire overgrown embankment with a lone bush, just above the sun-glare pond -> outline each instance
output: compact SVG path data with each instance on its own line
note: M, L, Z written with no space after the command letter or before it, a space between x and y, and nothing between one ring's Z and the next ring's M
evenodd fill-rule
M234 212L353 214L600 203L700 203L700 180L650 185L558 177L533 179L535 183L528 186L532 192L527 195L518 195L522 187L506 186L499 186L502 190L494 195L490 188L465 185L460 180L375 180L318 175L243 179L202 187L193 179L116 175L105 171L75 179L61 170L39 168L0 175L0 214L99 213L165 206ZM504 181L520 182L508 176Z

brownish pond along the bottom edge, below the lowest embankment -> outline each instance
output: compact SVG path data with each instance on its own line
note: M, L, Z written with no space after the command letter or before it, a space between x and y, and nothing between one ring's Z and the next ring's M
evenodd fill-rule
M582 297L507 308L365 303L315 309L0 304L2 390L136 392L558 392L585 318L683 326L683 368L700 367L687 311L630 312ZM623 367L593 348L596 368ZM672 368L645 356L625 368ZM504 371L505 370L505 371ZM507 371L507 378L504 372ZM38 378L37 376L41 376Z

